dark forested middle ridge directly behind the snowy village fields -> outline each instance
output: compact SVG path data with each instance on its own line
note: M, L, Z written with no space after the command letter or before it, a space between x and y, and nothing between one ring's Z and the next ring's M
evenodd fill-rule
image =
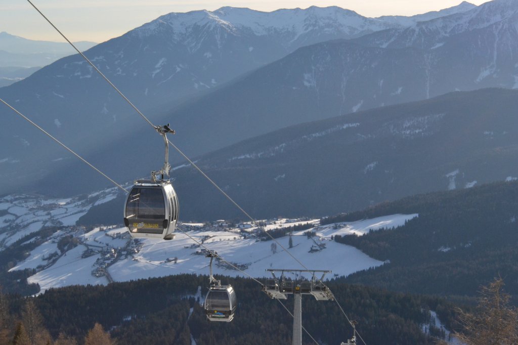
M517 107L518 91L455 92L287 127L197 164L254 217L320 217L515 180ZM241 217L194 169L173 175L184 219Z

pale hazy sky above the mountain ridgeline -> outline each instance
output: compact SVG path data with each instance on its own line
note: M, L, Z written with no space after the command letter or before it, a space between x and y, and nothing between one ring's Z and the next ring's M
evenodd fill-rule
M71 40L102 42L169 12L215 10L223 6L261 11L339 6L366 17L411 16L458 5L462 0L31 0ZM480 5L486 0L473 0ZM30 39L62 41L24 0L0 0L0 32ZM0 47L0 50L2 47Z

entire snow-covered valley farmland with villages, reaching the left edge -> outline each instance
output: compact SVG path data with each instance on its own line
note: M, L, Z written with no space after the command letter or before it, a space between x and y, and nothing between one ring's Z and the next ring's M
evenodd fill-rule
M38 243L10 271L34 269L29 283L38 283L41 291L75 284L106 284L175 274L208 274L205 249L177 231L172 241L136 240L125 228L114 226L85 228L75 226L80 215L92 205L108 202L117 194L113 189L87 198L48 199L32 195L9 195L0 199L0 251L9 246ZM287 249L305 265L331 269L335 276L347 276L358 270L383 263L351 246L332 240L332 236L363 235L381 228L404 225L418 214L395 214L358 222L319 226L318 220L276 219L265 221L266 231L313 223L314 237L305 231L293 233L293 248ZM258 240L257 228L249 223L229 225L181 224L183 231L252 277L264 277L265 268L293 266L293 258L271 241ZM40 229L49 232L38 233ZM277 239L288 247L289 238ZM65 244L66 242L66 244ZM27 247L25 247L27 248ZM308 252L310 254L308 254ZM333 257L333 260L330 260ZM224 262L217 261L215 274L244 276ZM333 278L329 276L328 278Z

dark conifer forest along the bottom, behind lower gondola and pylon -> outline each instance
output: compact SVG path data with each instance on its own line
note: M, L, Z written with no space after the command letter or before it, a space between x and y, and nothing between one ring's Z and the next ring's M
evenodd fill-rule
M231 323L207 321L196 297L198 286L206 293L207 277L171 276L161 279L113 283L108 286L70 286L49 290L34 299L42 315L42 329L52 338L60 334L78 340L94 324L111 329L111 337L121 344L198 345L262 344L291 342L293 319L278 301L261 292L249 279L227 279L235 287L238 309ZM372 287L330 283L342 308L369 344L432 344L421 325L430 320L429 310L451 320L452 306L437 298L389 293ZM10 325L15 325L25 310L26 299L8 296ZM293 310L293 299L284 301ZM192 308L192 309L191 309ZM319 341L338 344L352 336L352 328L332 301L303 298L303 326ZM14 327L11 327L14 328ZM431 329L440 335L439 329ZM12 335L12 334L11 334ZM303 343L314 343L303 335ZM81 343L81 342L79 342Z

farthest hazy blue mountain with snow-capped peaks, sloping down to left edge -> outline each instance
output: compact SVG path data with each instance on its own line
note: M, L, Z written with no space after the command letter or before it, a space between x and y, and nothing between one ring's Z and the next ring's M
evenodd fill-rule
M172 122L161 115L186 98L208 93L302 46L400 26L338 7L274 12L224 7L213 12L170 13L97 45L86 55L153 122L162 118ZM0 97L82 155L92 157L113 141L131 137L135 142L135 128L145 125L78 55L0 89ZM206 110L207 115L213 110ZM0 161L5 163L0 175L14 180L0 185L0 190L13 191L50 171L66 169L68 156L61 148L49 146L47 138L9 109L2 107L0 113L5 119L0 135L8 139L0 147ZM196 121L193 118L189 127L206 127ZM149 142L150 137L139 136L139 140ZM214 147L204 147L202 152Z

